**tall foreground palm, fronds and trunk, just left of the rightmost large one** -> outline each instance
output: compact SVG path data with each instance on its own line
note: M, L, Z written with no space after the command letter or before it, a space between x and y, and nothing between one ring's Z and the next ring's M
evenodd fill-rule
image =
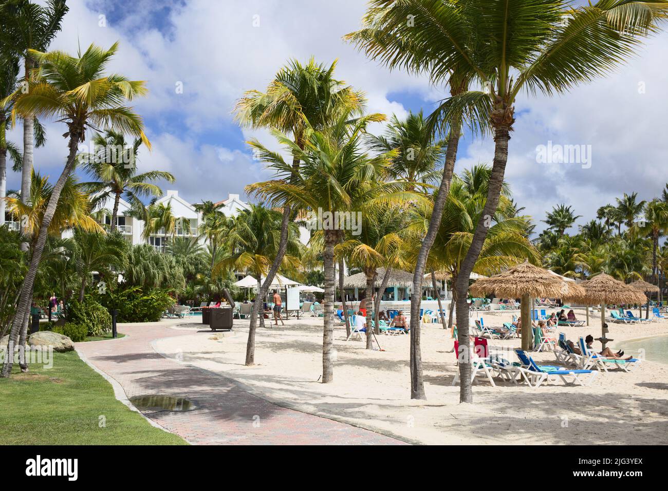
M442 29L442 23L450 27L454 10L458 9L453 1L382 1L374 0L363 17L363 28L349 33L345 39L353 41L372 59L381 61L390 69L405 68L413 73L428 73L430 81L436 86L447 84L450 96L458 96L468 90L471 80L470 60L466 57L453 57L450 33ZM411 19L420 12L422 24L415 28ZM426 15L425 15L426 14ZM455 160L462 122L452 117L442 118L441 108L437 108L428 118L428 127L432 132L440 130L446 134L447 150L445 164L434 196L433 210L420 246L420 252L413 269L413 292L411 297L410 317L410 375L411 398L424 399L422 381L422 354L420 351L420 301L422 300L422 281L429 252L436 240L438 226L450 190L450 181L454 172ZM462 116L462 114L460 114Z

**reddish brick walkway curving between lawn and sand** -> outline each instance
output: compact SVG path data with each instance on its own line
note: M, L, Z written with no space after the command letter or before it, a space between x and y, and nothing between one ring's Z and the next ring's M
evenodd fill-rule
M122 327L129 335L113 341L76 343L89 363L116 379L128 399L134 395L187 397L189 412L152 412L151 420L192 444L402 444L348 424L277 406L233 381L166 359L151 341L190 335L160 325ZM202 333L202 335L207 335Z

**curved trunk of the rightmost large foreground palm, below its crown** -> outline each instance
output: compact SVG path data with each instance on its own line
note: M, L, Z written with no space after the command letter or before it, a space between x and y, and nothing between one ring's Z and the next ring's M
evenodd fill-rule
M457 291L457 332L460 350L463 351L460 358L460 402L472 402L473 393L471 390L471 357L468 339L468 305L466 305L466 296L468 293L468 281L473 271L474 265L480 255L482 244L485 241L487 232L492 226L492 216L498 206L501 195L501 186L503 184L504 174L506 172L506 162L508 161L508 140L510 140L510 125L500 125L494 131L494 163L487 191L487 201L482 210L482 215L478 219L476 232L471 240L466 257L460 266L455 289ZM522 320L525 323L526 320ZM531 325L530 323L528 324Z

